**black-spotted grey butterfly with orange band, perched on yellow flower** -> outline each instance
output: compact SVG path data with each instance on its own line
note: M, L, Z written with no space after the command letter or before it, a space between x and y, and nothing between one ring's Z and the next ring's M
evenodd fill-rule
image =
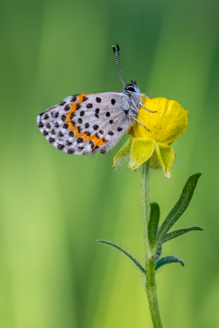
M141 97L150 97L140 91L136 81L124 83L118 43L117 51L114 45L113 51L123 91L75 94L37 116L40 132L64 153L85 155L100 151L105 154L132 129L134 121L147 129L137 116L144 107Z

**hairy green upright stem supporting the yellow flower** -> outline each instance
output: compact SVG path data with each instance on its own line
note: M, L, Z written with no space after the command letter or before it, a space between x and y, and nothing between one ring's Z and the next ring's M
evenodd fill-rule
M142 186L141 186L141 203L142 203L142 226L144 236L144 249L146 257L146 293L149 303L149 309L154 328L162 328L161 316L157 301L156 284L155 284L155 261L156 249L150 245L148 240L148 222L150 218L150 160L142 164Z

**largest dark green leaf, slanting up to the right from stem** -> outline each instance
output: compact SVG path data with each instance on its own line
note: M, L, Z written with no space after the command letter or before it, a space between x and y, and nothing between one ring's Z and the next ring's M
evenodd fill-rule
M197 181L199 177L201 176L201 173L195 173L192 174L184 188L183 191L177 200L174 207L171 209L169 214L166 216L164 222L162 223L160 230L158 232L158 244L160 244L160 241L163 239L164 235L169 231L169 229L174 225L174 223L180 218L181 215L186 211L186 208L188 207L192 195L194 193Z

